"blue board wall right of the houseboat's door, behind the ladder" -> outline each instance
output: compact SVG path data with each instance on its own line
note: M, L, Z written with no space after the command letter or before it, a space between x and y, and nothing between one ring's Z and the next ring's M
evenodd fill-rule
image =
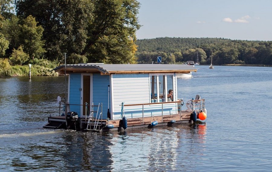
M99 103L103 104L102 117L103 117L103 119L107 119L108 85L110 85L109 75L100 75L98 73L94 73L92 80L93 80L93 85L92 85L93 86L93 89L92 89L93 90L93 92L92 92L93 103L94 103L94 105L98 105ZM109 109L111 110L111 107L109 107ZM94 114L94 117L95 116L96 116L96 114Z

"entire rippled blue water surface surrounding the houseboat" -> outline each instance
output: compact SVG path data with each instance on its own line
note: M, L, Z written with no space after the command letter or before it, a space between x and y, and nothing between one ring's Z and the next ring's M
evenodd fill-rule
M206 99L204 124L108 133L42 128L64 77L0 78L0 170L272 171L272 67L197 68L178 97Z

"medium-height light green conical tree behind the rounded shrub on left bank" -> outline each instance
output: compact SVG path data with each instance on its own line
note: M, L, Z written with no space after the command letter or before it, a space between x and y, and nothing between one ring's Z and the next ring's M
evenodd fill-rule
M45 52L44 40L42 40L43 31L44 29L37 26L35 18L31 15L23 20L20 33L21 45L24 46L24 52L28 53L31 58L40 58Z

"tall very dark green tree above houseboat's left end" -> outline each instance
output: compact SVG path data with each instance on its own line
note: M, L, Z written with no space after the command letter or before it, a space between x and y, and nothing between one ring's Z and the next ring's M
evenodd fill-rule
M45 56L48 59L64 60L64 52L80 54L85 48L87 26L92 18L92 1L18 0L16 11L21 19L32 15L44 28Z

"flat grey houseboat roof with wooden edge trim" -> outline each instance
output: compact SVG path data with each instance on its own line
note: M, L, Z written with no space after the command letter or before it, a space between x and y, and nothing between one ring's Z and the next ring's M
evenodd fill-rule
M64 73L65 65L53 69ZM110 75L116 73L189 73L197 69L187 64L66 64L66 73L97 73Z

